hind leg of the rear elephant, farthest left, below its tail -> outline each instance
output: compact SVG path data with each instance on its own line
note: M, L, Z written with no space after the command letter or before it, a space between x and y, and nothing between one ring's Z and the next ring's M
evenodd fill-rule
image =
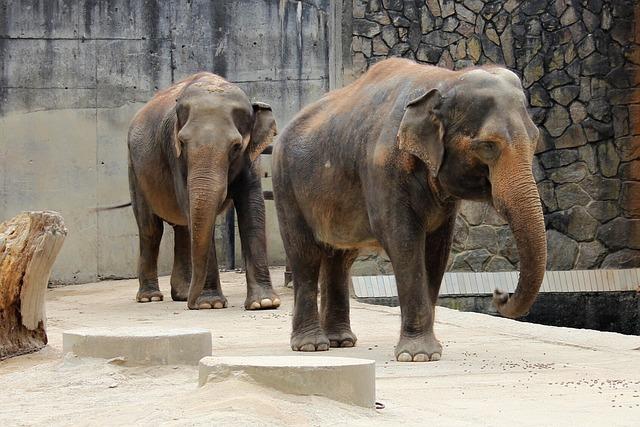
M140 255L138 258L138 281L140 287L136 295L138 302L162 301L163 295L158 286L158 252L164 224L144 200L132 201L133 213L138 223Z

